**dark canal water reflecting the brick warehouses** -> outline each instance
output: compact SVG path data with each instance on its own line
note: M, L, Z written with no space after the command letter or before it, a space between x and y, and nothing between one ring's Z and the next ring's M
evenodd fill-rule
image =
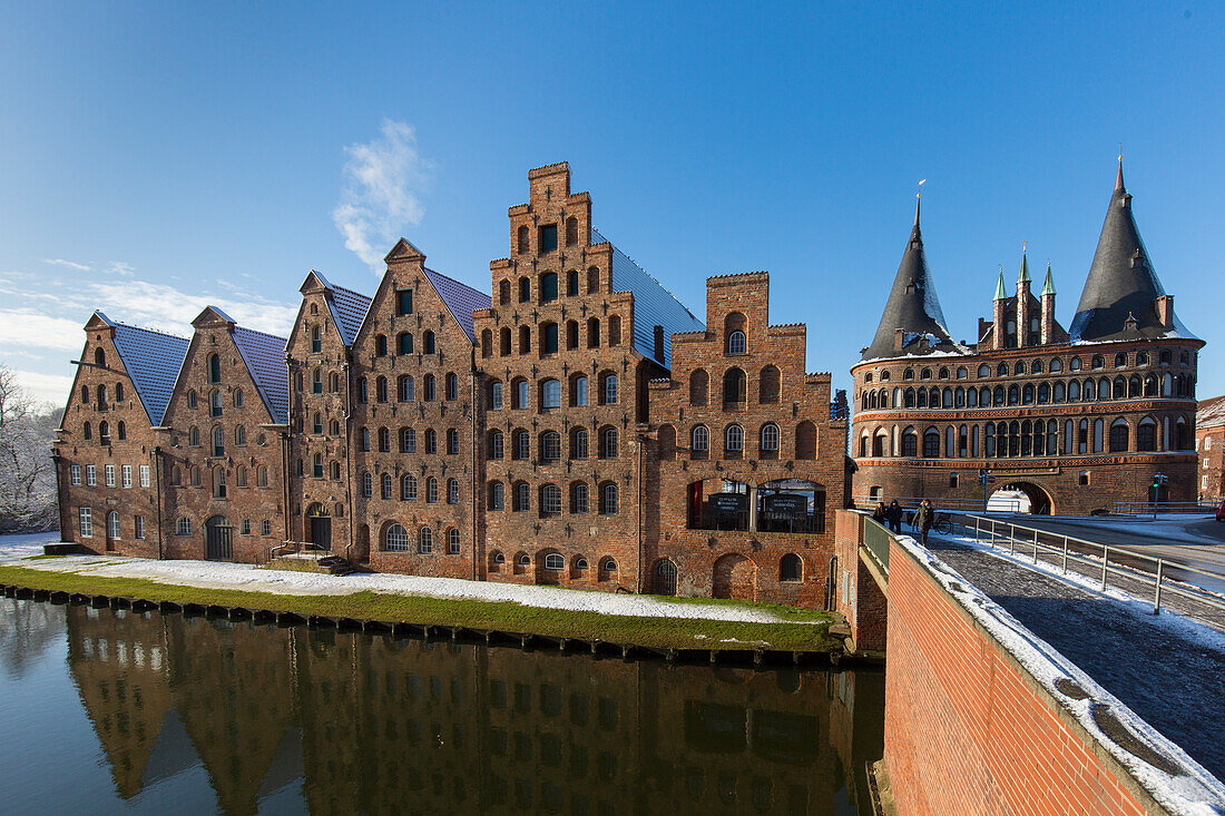
M5 814L869 814L878 670L0 598Z

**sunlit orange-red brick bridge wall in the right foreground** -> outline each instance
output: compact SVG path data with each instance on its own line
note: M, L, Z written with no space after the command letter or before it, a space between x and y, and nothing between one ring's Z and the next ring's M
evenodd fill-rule
M899 814L1144 814L1136 783L902 548L884 761Z

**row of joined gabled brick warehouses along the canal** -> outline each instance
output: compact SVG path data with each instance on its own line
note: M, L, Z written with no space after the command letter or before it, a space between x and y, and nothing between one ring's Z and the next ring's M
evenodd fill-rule
M710 278L703 326L567 164L528 185L492 298L401 239L372 298L307 274L289 338L96 312L54 448L65 540L822 603L846 424L804 326L769 326L766 273Z

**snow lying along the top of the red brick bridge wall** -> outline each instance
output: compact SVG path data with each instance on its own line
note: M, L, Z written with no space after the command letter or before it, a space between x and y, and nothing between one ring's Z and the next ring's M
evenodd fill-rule
M927 572L943 587L944 592L952 595L979 624L991 632L1022 667L1055 700L1058 700L1076 717L1085 731L1093 735L1112 757L1127 768L1132 777L1163 807L1172 814L1187 814L1188 816L1210 816L1225 812L1225 784L1192 760L1186 751L1137 717L1134 712L1123 706L1114 695L1099 686L1089 675L1034 635L1020 621L991 600L973 583L963 578L959 572L935 554L921 546L909 535L897 535L895 538L900 546L926 567ZM973 538L958 540L963 540L970 545L976 544ZM1063 678L1076 681L1088 692L1088 698L1076 700L1060 691L1056 686L1056 680ZM1181 766L1186 773L1178 776L1166 773L1118 746L1098 727L1093 717L1095 705L1104 706L1139 741L1147 744L1158 755L1167 757Z

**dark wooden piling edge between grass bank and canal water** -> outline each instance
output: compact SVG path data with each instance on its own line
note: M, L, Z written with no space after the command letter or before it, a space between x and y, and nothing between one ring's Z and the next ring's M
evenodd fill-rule
M385 635L393 638L426 641L451 640L486 646L518 647L521 649L555 649L564 653L588 653L597 657L631 659L664 659L674 663L709 663L712 665L747 665L768 668L780 665L828 667L843 659L849 662L878 663L862 655L844 654L837 649L769 649L769 648L659 648L635 643L612 643L599 638L559 637L532 632L512 632L469 626L440 624L410 624L328 615L298 615L272 609L250 609L221 604L175 603L173 600L148 600L96 593L66 592L56 589L32 589L0 583L0 595L6 598L48 602L53 604L88 605L94 609L125 609L137 613L157 611L180 614L184 618L209 618L230 621L251 621L261 626L307 626L310 629L334 629L342 632Z

